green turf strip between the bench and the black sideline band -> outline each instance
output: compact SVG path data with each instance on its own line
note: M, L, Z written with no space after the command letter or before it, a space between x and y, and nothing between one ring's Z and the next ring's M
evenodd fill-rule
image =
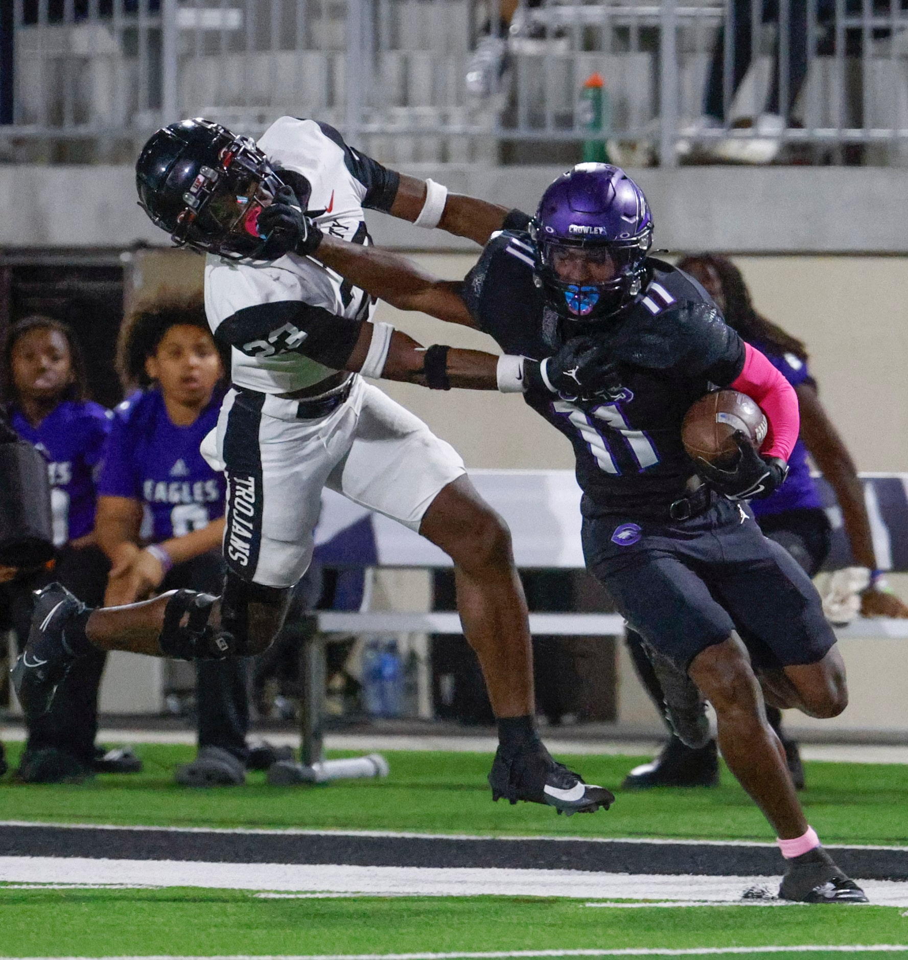
M19 745L10 744L11 766ZM88 824L382 829L470 834L549 834L695 839L772 839L744 791L723 772L717 789L618 792L608 813L557 817L535 804L492 804L483 754L387 753L391 776L330 786L275 788L264 775L245 787L187 790L174 767L190 747L139 744L139 775L98 777L81 785L25 785L3 780L0 819ZM341 756L341 755L334 755ZM349 755L346 755L349 756ZM564 757L586 780L616 790L642 757ZM810 823L826 843L908 843L908 768L807 763L801 794ZM908 921L906 921L908 924Z

